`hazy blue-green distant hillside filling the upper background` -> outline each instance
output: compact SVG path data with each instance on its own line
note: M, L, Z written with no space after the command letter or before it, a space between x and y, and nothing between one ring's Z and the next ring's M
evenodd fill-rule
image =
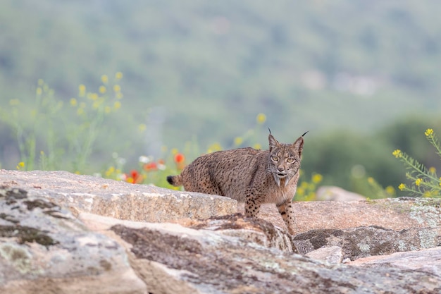
M437 1L2 0L0 107L32 100L39 78L68 103L121 71L109 123L133 158L152 141L230 147L259 113L282 141L368 132L440 112L440 13ZM266 145L265 128L255 139Z

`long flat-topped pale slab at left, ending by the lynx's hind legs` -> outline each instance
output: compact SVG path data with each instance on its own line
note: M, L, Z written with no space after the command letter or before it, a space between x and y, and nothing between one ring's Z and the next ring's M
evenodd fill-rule
M131 221L206 219L236 212L236 200L66 171L0 170L0 185L20 186L31 196L46 197L74 212L91 212Z

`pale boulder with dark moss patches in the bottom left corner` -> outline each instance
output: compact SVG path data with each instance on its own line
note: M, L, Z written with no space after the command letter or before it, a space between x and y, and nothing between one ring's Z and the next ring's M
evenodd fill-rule
M0 188L0 293L146 293L118 243L66 209Z

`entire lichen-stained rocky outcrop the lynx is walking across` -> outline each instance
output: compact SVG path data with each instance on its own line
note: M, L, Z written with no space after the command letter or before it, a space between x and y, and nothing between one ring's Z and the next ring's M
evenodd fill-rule
M66 172L0 186L0 293L441 292L440 200L297 202L292 236L225 197Z

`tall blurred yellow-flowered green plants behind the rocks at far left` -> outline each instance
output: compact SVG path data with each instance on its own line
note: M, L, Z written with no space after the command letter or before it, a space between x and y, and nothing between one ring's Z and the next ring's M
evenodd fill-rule
M93 171L88 163L92 152L97 152L96 142L110 134L104 125L106 116L121 106L123 94L118 82L122 77L116 73L109 82L103 75L98 93L87 92L85 85L80 85L78 98L71 98L68 105L57 99L43 80L38 81L34 105L11 99L8 108L0 109L0 120L16 137L20 150L17 168Z

